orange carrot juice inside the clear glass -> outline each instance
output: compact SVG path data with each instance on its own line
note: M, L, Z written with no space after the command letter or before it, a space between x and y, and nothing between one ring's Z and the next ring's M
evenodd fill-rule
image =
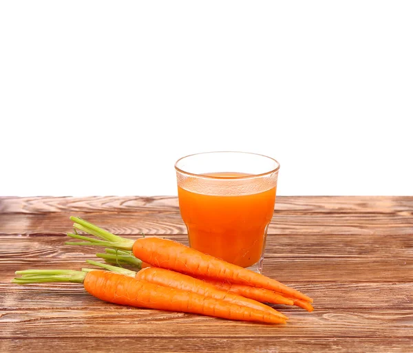
M202 175L220 178L222 182L251 176L246 173ZM187 225L191 248L244 268L260 261L267 227L273 217L276 186L236 195L231 192L211 195L190 189L193 188L185 187L184 183L178 185L180 213Z

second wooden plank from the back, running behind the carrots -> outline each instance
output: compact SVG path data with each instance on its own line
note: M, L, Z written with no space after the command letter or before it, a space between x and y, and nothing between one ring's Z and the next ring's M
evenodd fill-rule
M186 235L170 238L187 243ZM65 240L60 235L0 235L0 270L5 273L0 282L25 268L79 269L103 250L65 246ZM413 237L404 235L268 235L264 274L289 285L413 282L413 257L406 251L412 248Z

